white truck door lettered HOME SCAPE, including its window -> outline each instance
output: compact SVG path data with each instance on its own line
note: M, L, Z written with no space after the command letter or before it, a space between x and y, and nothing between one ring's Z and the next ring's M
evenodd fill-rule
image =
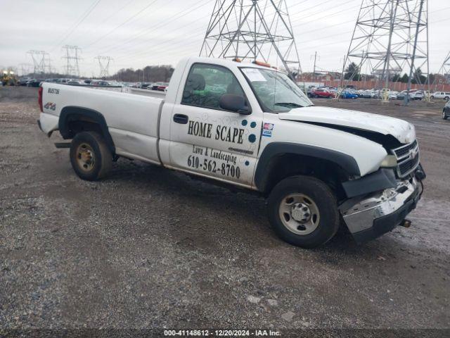
M250 186L262 112L254 109L242 115L219 106L224 94L244 96L250 106L236 75L220 65L193 63L181 86L182 97L174 104L170 121L172 167Z

